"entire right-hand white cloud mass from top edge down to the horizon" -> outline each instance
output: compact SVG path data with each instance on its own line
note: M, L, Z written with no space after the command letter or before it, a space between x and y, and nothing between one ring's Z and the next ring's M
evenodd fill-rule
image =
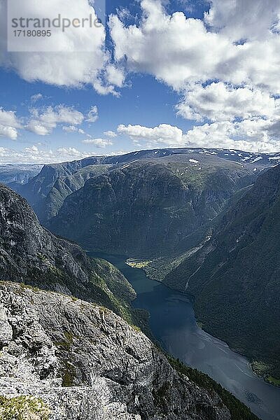
M157 127L118 132L134 141L152 137L154 145L279 148L279 1L211 0L202 20L168 13L165 1L140 3L142 16L133 25L111 16L117 62L172 87L181 95L177 113L207 124L174 141L159 135L160 143Z

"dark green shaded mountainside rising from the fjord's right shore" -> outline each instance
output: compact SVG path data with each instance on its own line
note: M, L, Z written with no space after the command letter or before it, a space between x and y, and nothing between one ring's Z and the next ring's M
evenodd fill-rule
M254 360L270 381L280 377L279 237L280 165L262 174L211 239L164 279L195 295L205 328Z

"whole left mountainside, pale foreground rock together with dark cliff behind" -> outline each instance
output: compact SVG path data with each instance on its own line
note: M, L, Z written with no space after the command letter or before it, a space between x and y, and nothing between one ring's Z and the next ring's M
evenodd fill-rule
M0 279L1 419L256 419L205 375L175 370L125 321L135 293L122 274L41 228L5 186Z

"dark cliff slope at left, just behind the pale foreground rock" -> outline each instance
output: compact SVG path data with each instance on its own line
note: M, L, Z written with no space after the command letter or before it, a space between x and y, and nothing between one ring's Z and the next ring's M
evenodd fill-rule
M109 262L87 258L79 246L42 228L29 204L1 185L0 279L72 294L118 314L135 296Z

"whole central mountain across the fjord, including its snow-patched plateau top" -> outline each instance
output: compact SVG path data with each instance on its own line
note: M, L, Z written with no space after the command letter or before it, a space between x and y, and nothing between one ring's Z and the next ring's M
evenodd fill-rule
M58 235L151 258L202 239L230 198L276 158L216 149L140 151L46 165L17 190Z

